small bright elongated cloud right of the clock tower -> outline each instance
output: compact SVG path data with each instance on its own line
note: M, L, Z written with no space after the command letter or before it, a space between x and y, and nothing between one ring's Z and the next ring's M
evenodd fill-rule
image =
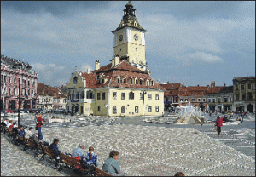
M206 54L204 52L195 52L194 54L187 54L187 56L190 59L193 60L199 60L205 63L217 63L217 62L223 62L224 60L222 60L219 56L214 56L212 54Z

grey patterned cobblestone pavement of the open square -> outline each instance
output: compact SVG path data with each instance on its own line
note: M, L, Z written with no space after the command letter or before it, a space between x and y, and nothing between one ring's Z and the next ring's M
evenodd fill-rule
M149 123L148 126L140 122L140 117L130 119L132 123L128 123L127 118L107 122L101 117L94 118L45 123L44 140L51 142L58 138L61 152L68 153L72 153L79 142L84 142L86 147L94 146L99 168L109 151L119 151L119 165L128 175L172 176L182 171L193 176L255 176L255 125L254 129L250 127L251 120L241 125L224 126L218 136L212 125ZM21 123L34 126L31 117ZM9 144L2 135L1 138L1 175L75 175L69 168L58 172L53 169L54 161L38 161L29 150L20 151L19 146ZM38 166L42 169L38 170Z

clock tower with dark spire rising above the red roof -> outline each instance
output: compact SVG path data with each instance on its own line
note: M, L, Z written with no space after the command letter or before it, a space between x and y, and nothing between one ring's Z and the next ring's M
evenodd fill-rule
M135 16L131 1L125 5L124 16L118 28L112 31L113 54L128 57L128 61L142 70L146 70L145 32Z

